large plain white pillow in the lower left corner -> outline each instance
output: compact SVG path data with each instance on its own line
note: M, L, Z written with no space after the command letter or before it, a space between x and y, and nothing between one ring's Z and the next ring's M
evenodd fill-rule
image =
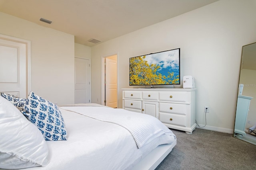
M42 133L0 96L0 168L46 166L48 146Z

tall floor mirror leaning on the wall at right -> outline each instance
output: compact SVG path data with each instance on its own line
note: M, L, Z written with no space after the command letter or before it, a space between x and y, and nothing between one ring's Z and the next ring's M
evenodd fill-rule
M256 145L256 43L242 47L234 137Z

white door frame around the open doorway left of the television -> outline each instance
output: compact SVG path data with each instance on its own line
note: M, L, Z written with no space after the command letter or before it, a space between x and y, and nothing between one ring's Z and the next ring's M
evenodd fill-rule
M116 63L117 63L117 108L118 108L118 94L119 94L119 78L118 78L118 53L114 53L112 55L116 55ZM105 105L105 58L110 57L112 55L106 55L101 57L101 105ZM98 102L98 101L97 101Z

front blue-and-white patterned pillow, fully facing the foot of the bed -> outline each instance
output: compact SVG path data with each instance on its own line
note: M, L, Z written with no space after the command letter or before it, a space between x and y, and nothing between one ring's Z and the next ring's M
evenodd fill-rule
M30 92L23 114L42 132L46 141L67 140L66 126L58 106Z

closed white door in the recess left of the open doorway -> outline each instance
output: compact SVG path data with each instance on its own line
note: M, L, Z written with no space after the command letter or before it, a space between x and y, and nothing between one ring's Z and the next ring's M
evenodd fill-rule
M90 103L90 60L75 57L75 103Z

